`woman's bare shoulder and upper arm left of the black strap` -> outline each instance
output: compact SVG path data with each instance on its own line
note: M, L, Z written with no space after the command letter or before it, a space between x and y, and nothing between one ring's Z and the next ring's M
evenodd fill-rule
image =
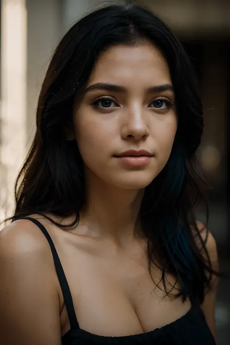
M35 228L18 220L0 231L1 345L61 344L52 257Z

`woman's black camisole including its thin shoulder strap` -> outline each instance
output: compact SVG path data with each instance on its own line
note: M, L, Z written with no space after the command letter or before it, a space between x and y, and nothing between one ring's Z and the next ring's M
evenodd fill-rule
M215 345L204 314L192 298L191 309L180 319L147 333L112 337L92 334L81 329L62 264L48 231L36 219L31 217L19 219L28 219L36 224L49 242L70 322L69 331L62 337L62 345Z

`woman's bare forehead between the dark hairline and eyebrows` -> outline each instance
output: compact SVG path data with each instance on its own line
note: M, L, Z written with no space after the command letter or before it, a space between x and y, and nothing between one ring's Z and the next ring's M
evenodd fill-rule
M170 83L170 71L162 53L152 44L137 47L115 46L102 53L91 82L132 84Z

